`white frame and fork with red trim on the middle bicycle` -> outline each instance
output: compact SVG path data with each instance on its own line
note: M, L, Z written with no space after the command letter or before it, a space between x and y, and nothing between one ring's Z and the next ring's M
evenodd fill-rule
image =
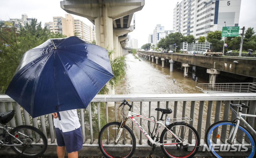
M155 123L157 124L157 130L156 130L156 133L155 133L155 138L154 138L154 140L153 140L153 139L149 136L149 134L143 129L143 127L140 126L140 124L133 118L133 116L136 116L136 117L141 118L141 119L144 119L144 120L148 120L148 121L150 121L150 122L155 122ZM124 119L124 121L122 122L121 126L119 127L119 132L118 132L118 135L117 135L117 138L116 138L116 141L115 141L116 143L118 142L118 139L119 139L119 137L120 137L120 135L121 135L121 132L122 132L122 130L123 130L122 126L125 124L125 122L126 122L126 120L127 120L128 118L130 118L130 119L135 123L135 125L140 129L140 131L142 131L142 133L146 136L146 138L148 138L148 140L149 140L150 143L152 143L152 144L155 144L155 145L177 145L177 144L178 144L177 142L175 142L175 143L157 143L157 142L156 142L156 138L157 138L156 136L158 136L159 130L160 130L161 126L163 126L165 129L167 129L179 142L182 142L182 141L174 134L174 132L172 132L171 130L169 130L169 129L165 126L165 124L163 124L161 121L152 120L152 119L147 118L147 117L145 117L145 116L143 116L143 115L138 115L138 114L136 114L136 113L133 113L133 112L131 112L131 111L128 111L128 114L127 114L126 118ZM174 138L171 138L171 139L174 139Z

